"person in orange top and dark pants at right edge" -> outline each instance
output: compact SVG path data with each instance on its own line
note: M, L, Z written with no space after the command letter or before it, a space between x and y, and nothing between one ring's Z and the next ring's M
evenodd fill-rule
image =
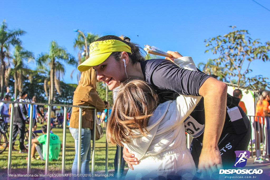
M257 102L256 105L256 113L255 113L255 122L254 122L254 128L256 130L256 135L257 135L257 144L256 144L256 156L258 157L260 154L260 144L259 144L259 131L261 134L261 142L262 142L262 137L263 137L263 127L261 126L261 124L264 124L264 118L262 117L258 117L258 116L270 116L270 114L268 114L269 111L269 103L268 100L270 100L270 91L262 91L262 94L259 97L259 101ZM258 120L259 120L259 124L258 124Z

